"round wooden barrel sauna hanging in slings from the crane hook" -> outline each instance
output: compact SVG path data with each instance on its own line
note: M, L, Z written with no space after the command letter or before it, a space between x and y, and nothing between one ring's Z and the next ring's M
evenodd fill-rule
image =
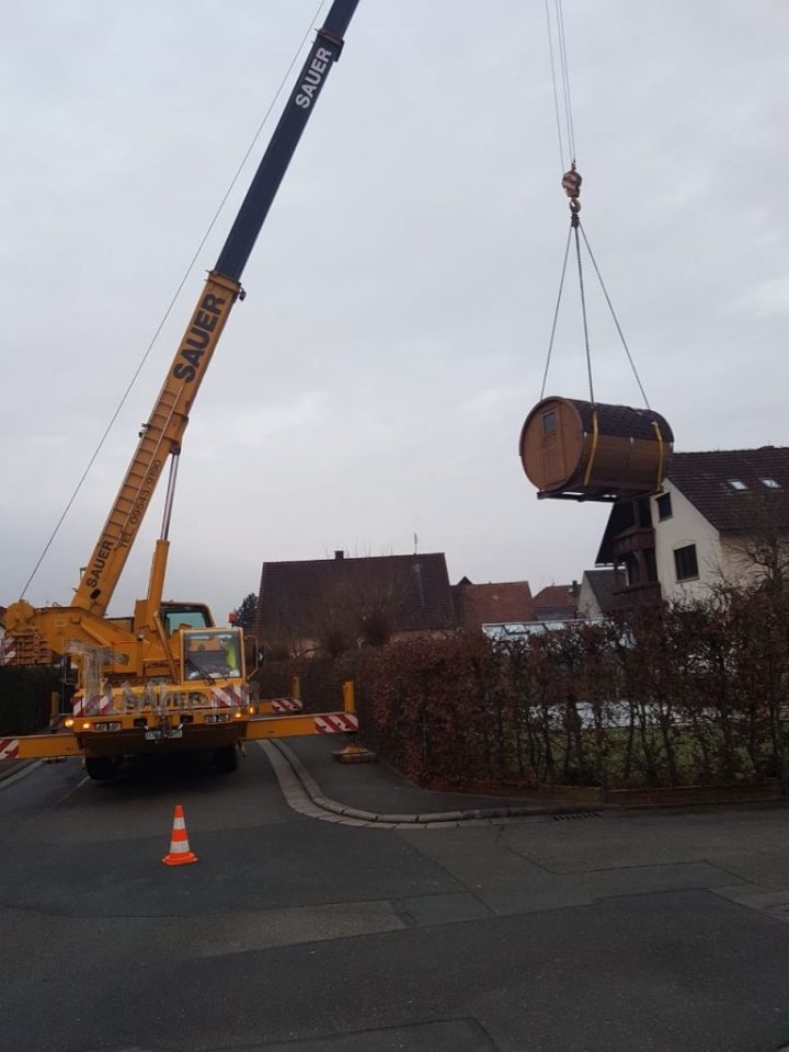
M540 498L618 501L659 490L674 435L651 409L545 398L521 432L524 471Z

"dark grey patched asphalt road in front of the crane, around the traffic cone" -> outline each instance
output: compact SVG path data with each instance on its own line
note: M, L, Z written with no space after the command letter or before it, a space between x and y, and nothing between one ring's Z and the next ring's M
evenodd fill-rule
M334 798L441 810L329 747L300 755ZM175 803L197 865L160 862ZM370 828L294 811L254 746L230 776L41 766L0 784L0 1048L775 1052L788 819Z

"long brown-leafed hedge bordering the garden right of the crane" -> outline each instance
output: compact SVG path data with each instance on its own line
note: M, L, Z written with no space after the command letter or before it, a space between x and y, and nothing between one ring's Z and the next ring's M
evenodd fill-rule
M355 679L365 741L423 785L732 785L787 774L781 590L508 641L415 638L311 675L319 708L339 707L340 684Z

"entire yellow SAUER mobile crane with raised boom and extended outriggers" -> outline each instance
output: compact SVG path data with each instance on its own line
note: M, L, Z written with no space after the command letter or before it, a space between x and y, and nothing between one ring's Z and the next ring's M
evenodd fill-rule
M202 603L162 602L181 443L188 414L230 311L241 274L327 77L339 59L358 0L334 0L318 31L215 268L201 293L107 521L68 606L20 601L5 614L2 662L78 671L73 716L56 734L0 739L0 759L82 753L88 774L111 778L124 756L213 750L235 769L244 739L356 729L352 711L278 716L251 698L241 628L219 628ZM168 460L161 537L148 593L134 616L107 617L126 559Z

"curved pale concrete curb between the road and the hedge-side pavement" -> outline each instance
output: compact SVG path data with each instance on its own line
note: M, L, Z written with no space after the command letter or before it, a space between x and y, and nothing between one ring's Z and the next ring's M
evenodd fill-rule
M382 814L376 811L365 811L362 808L352 808L350 804L339 803L336 800L325 797L312 775L283 741L272 739L267 744L276 748L282 755L316 808L329 811L340 817L352 819L370 825L380 825L381 827L410 826L412 828L424 828L430 825L447 827L471 822L506 822L512 819L537 817L545 814L590 814L606 810L605 807L601 805L590 808L587 804L546 803L540 807L512 804L502 808L469 808L462 811L432 811L421 814Z

